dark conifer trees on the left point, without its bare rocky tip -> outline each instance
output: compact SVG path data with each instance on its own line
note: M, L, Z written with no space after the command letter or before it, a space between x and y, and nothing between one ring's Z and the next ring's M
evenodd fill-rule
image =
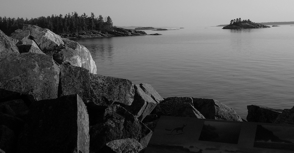
M112 30L113 22L111 18L96 17L94 13L87 16L85 13L78 15L76 12L63 15L51 15L48 17L31 18L30 20L23 18L6 18L0 17L0 29L6 34L10 35L16 29L21 29L25 24L34 24L42 28L48 28L55 33L76 33L90 30Z

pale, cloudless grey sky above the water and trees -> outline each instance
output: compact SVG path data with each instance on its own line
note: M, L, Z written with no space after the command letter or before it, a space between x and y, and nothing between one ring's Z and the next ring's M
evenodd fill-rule
M1 0L0 17L38 18L77 12L110 16L116 26L200 27L294 21L294 0Z

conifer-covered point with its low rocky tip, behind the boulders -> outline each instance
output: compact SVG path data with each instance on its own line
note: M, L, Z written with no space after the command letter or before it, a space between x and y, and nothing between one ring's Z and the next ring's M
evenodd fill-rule
M0 17L0 30L6 35L10 35L17 29L22 29L23 24L33 24L48 28L54 33L67 38L147 35L144 31L118 28L113 25L109 16L102 17L99 15L96 17L94 13L88 16L85 13L78 15L77 12L72 12L64 16L60 14L59 16L51 15L31 19Z

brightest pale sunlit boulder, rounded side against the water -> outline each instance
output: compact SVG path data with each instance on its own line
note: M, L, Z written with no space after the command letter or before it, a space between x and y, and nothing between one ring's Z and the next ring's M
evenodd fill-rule
M88 69L91 73L97 73L95 61L90 51L83 45L69 39L63 39L65 48L53 55L53 59L59 64L70 63Z

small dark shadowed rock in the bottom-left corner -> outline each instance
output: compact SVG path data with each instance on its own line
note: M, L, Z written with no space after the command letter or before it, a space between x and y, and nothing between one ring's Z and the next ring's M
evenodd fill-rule
M0 148L6 153L13 153L15 150L15 147L16 147L16 135L14 131L9 129L5 125L0 125Z

